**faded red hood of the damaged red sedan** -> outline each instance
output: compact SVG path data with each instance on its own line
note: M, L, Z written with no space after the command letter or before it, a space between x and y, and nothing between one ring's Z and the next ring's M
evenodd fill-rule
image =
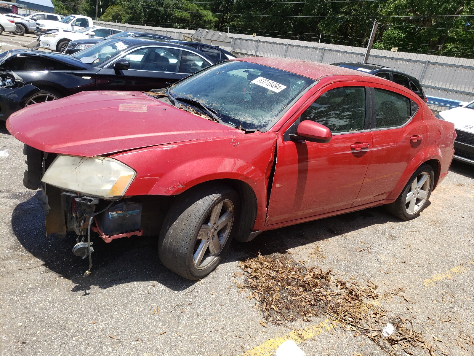
M38 150L102 156L243 131L201 118L141 92L83 92L13 113L8 131Z

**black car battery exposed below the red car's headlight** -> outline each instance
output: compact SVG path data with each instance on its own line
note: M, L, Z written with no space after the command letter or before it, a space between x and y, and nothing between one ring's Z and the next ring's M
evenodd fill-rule
M142 203L119 201L97 215L97 224L106 235L126 234L140 229Z

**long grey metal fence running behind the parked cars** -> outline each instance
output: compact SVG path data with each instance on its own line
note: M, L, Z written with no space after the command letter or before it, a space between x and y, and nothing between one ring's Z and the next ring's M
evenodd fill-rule
M183 39L194 30L159 28L95 21L124 31L145 31ZM236 56L265 56L319 63L362 62L365 48L284 38L229 33ZM469 102L474 99L474 59L372 49L369 63L398 69L418 78L427 95ZM440 110L441 108L434 108Z

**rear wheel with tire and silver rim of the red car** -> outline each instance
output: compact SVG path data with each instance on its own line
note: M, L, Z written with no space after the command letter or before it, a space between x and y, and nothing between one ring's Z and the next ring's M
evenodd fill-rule
M422 179L423 182L421 182ZM434 182L435 173L431 166L421 165L411 176L400 197L385 208L390 214L402 220L414 219L428 204Z

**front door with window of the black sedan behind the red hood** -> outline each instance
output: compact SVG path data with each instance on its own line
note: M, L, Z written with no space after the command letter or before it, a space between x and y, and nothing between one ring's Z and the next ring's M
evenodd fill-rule
M97 90L150 91L165 88L178 80L181 50L145 47L128 52L121 58L130 62L127 70L115 71L113 63L97 73Z

